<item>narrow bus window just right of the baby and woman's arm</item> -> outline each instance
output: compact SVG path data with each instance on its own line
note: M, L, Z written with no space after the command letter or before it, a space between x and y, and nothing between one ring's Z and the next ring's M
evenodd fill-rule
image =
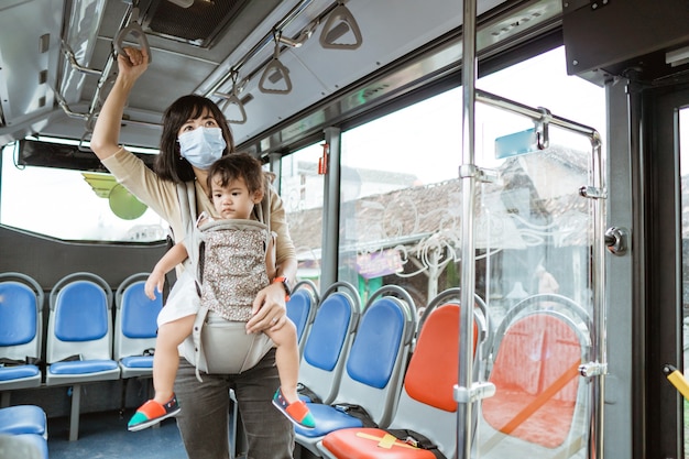
M320 277L324 175L318 173L322 143L302 149L281 160L281 197L289 234L296 247L297 281Z

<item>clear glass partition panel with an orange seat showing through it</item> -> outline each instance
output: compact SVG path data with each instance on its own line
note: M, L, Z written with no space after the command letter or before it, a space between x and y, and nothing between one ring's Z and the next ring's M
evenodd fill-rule
M507 125L522 132L517 116L479 106L477 118L477 165L496 177L478 185L474 210L475 293L493 331L480 357L496 387L482 403L479 457L584 457L591 385L578 369L597 361L595 261L593 201L579 189L592 185L592 145L550 127L549 147L524 151L504 138Z

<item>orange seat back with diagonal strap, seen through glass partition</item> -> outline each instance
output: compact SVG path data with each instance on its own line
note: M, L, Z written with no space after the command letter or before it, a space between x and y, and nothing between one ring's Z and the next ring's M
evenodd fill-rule
M497 349L489 378L496 391L483 401L484 419L505 435L559 447L571 429L581 356L576 330L560 317L517 319Z

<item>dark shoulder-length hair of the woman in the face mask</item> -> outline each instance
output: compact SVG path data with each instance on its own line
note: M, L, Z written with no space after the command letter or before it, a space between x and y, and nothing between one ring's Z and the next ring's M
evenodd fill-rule
M163 113L163 135L161 136L161 153L155 160L155 172L161 178L174 183L193 181L196 176L192 165L179 155L177 134L188 120L201 116L204 109L212 114L222 130L227 142L223 155L234 152L234 139L225 114L216 102L204 96L188 95L175 100Z

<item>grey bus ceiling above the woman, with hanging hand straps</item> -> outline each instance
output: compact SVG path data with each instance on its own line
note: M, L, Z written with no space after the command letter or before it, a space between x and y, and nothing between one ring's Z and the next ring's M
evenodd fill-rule
M626 24L610 21L610 13L643 10L627 3L653 4L644 21L661 23L649 30L668 35L663 50L636 48L663 53L686 44L686 26L675 26L689 23L686 14L670 14L687 11L683 0L657 8L649 0L479 0L478 57L499 55L564 24L571 74L595 79L620 72L617 66L634 57L628 47L638 43L604 35L610 23ZM122 143L157 147L163 109L195 92L223 108L238 145L255 153L282 151L456 73L461 22L461 2L455 0L3 2L0 144L32 135L87 146L114 79L116 48L133 45L149 46L152 62L125 108Z

